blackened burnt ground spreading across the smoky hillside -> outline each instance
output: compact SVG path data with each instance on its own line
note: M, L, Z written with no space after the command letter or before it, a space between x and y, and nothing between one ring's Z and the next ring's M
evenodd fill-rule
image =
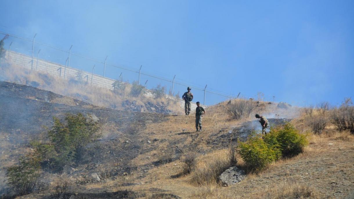
M169 119L158 113L124 112L109 108L97 107L77 99L68 98L56 93L36 89L31 86L0 82L0 136L4 138L0 144L0 177L4 177L6 166L15 164L18 158L25 154L29 142L35 139L45 139L47 128L53 125L52 117L63 119L66 113L94 114L99 118L102 138L91 143L81 161L73 165L78 172L74 178L80 178L93 172L108 174L108 180L116 176L124 176L131 170L137 170L138 179L144 178L150 169L159 166L159 161L144 164L139 168L131 160L139 155L156 151L159 146L167 144L173 150L174 159L179 159L184 153L196 152L206 154L214 149L226 148L230 140L245 140L252 130L260 127L257 120L245 122L238 127L221 129L202 140L196 132L170 132L173 139L150 139L154 132L146 134L147 125L159 125ZM271 124L282 124L287 119L269 119ZM190 138L190 142L186 140ZM198 147L205 142L208 147ZM51 174L45 172L44 183L51 182ZM77 182L77 180L75 181ZM83 184L87 182L82 182ZM82 184L81 183L81 184ZM134 186L134 183L122 182L120 186ZM0 182L4 187L4 182ZM109 192L103 189L77 189L77 198L124 198L130 192ZM103 193L104 192L104 193ZM161 194L164 190L156 192ZM177 196L176 196L177 197ZM173 197L172 197L173 198Z

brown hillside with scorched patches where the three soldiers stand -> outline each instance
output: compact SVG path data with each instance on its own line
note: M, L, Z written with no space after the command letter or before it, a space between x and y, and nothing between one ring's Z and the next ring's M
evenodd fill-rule
M97 116L102 138L87 146L82 160L70 165L77 171L41 173L42 190L17 198L53 198L56 184L68 181L70 198L353 198L354 138L329 127L310 135L309 146L297 157L272 163L240 183L195 184L193 172L181 174L183 159L193 153L201 167L215 158L227 158L230 143L244 141L260 126L255 118L230 119L228 102L206 108L203 131L195 132L192 115L126 112L94 106L31 86L0 82L0 175L30 152L31 140L46 140L52 116L78 112ZM299 109L252 102L271 124L290 121L306 132ZM166 159L169 159L168 161ZM240 158L239 158L240 159ZM166 161L162 161L166 160ZM242 163L241 160L239 160ZM99 182L85 176L97 173ZM2 192L8 191L5 182ZM1 189L0 189L1 190ZM1 193L1 192L0 192Z

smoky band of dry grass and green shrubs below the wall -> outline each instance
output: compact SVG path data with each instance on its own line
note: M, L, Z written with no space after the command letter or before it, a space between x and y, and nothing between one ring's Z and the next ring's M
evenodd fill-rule
M6 67L5 67L6 66ZM20 66L6 64L0 70L0 80L29 85L52 91L80 101L116 110L176 114L181 112L178 98L166 98L166 88L157 85L150 95L144 86L122 79L112 84L112 89L97 87L77 74L63 80L49 74L28 70ZM170 93L170 95L173 95ZM179 93L176 94L179 96Z

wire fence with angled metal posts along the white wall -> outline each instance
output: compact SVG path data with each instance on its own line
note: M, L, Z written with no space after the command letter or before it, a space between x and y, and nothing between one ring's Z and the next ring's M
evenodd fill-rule
M67 50L63 50L38 42L36 41L38 38L38 35L36 34L31 39L3 32L0 32L0 34L9 36L9 38L5 40L5 49L7 50L5 57L7 59L11 59L11 56L12 58L20 56L25 60L22 64L25 64L28 67L28 64L30 64L31 69L45 70L48 73L57 74L64 79L68 78L68 75L73 76L78 73L78 71L81 71L81 75L83 75L83 78L88 83L97 84L110 89L112 89L112 83L115 81L114 79L125 80L126 82L129 82L130 79L132 81L137 81L138 84L144 85L145 88L148 88L149 85L160 84L167 88L166 95L179 98L181 98L186 88L190 86L193 89L194 96L199 96L197 101L203 102L204 105L207 102L207 97L217 98L217 101L224 101L226 99L238 98L240 95L239 93L238 96L230 96L212 91L211 89L208 90L207 85L194 86L181 79L176 81L176 75L171 76L169 79L158 75L148 74L142 71L143 66L140 66L139 68L116 66L107 62L108 57L105 57L102 60L92 59L90 57L73 53L73 46L70 46ZM85 71L87 68L92 68L92 70ZM183 92L179 93L176 91ZM210 105L211 103L208 104Z

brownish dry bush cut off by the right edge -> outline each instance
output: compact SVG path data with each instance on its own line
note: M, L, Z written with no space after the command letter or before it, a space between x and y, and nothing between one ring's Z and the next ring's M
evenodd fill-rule
M351 104L352 100L346 98L339 108L333 108L330 113L332 123L339 131L350 130L354 133L354 107Z

